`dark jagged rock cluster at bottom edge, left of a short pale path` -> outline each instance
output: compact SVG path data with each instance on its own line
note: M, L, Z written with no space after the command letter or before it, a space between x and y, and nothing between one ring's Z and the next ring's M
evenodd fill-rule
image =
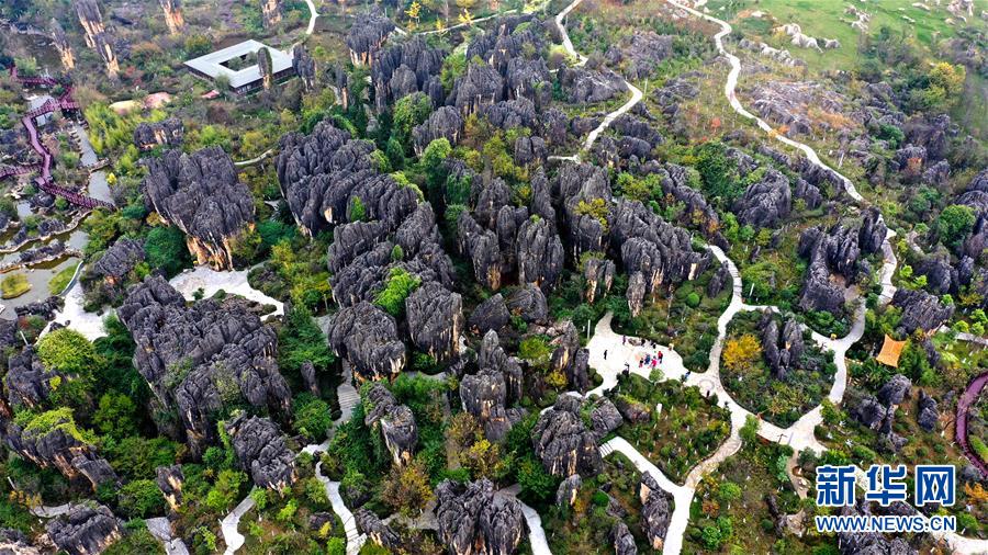
M483 478L460 484L444 480L436 487L439 540L450 555L508 555L525 533L521 503L494 494Z

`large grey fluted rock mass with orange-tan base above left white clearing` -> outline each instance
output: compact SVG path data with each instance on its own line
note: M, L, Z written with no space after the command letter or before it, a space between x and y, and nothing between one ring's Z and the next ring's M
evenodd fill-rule
M150 207L186 234L200 264L232 270L236 239L254 227L254 200L237 181L229 156L214 146L147 160L144 192Z

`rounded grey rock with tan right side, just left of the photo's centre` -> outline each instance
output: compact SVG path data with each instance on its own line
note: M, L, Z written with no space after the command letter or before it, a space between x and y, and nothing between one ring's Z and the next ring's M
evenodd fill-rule
M415 290L405 299L412 342L437 361L457 355L463 331L463 301L436 282Z

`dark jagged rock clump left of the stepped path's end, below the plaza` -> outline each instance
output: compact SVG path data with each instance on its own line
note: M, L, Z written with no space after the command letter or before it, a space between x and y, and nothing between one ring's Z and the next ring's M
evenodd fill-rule
M555 405L542 412L531 430L535 454L553 476L595 475L603 460L597 435L580 417L581 403L561 395Z

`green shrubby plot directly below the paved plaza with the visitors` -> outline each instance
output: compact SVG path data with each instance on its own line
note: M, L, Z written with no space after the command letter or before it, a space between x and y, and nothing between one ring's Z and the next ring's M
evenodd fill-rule
M670 479L682 484L700 461L710 456L731 431L730 412L717 405L717 398L705 398L696 387L680 382L652 383L631 374L620 377L608 393L620 404L638 404L649 421L625 423L617 434L659 466ZM655 407L662 404L662 410Z

